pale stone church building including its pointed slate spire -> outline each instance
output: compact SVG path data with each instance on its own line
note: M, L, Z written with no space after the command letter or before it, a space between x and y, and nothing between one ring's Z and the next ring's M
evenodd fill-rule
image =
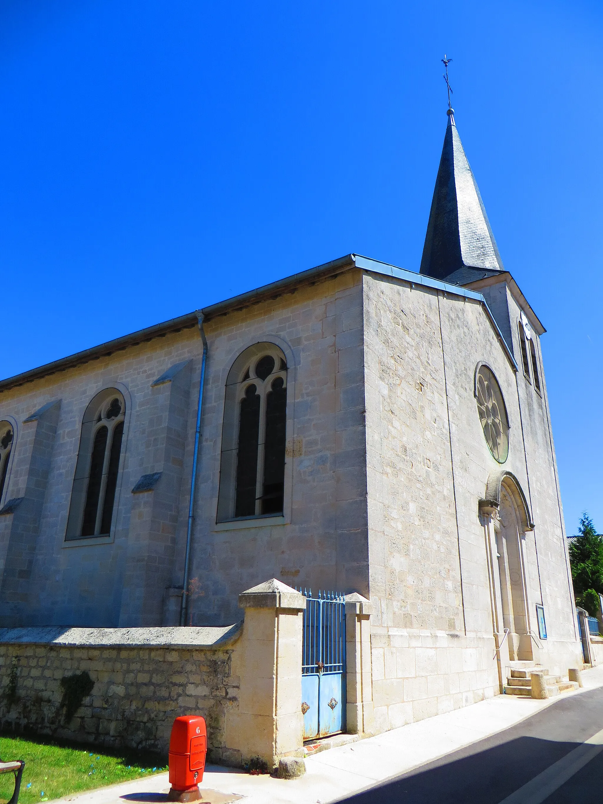
M449 114L420 273L350 254L0 381L0 626L226 626L272 577L360 593L375 731L512 660L567 671L544 331Z

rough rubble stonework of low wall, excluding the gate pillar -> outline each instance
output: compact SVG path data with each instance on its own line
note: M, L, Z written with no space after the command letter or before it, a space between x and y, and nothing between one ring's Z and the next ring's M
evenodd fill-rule
M36 634L31 634L28 642L23 637L17 642L16 634L15 641L6 642L10 634L0 634L5 640L0 642L0 728L166 754L174 718L198 714L207 721L209 761L240 765L240 751L225 744L228 712L237 708L239 701L240 679L232 675L232 654L240 633L236 626L182 629L188 632L187 642L200 636L191 632L217 632L209 646L153 644L157 639L141 644L141 635L135 633L168 630L180 629L129 629L129 638L121 645L110 644L111 635L107 638L107 634L122 629L89 630L96 632L97 642L109 642L100 645L90 643L92 634L86 634L86 645L65 644L69 637L32 642ZM73 638L77 631L88 630L70 629L72 642L78 642ZM207 635L203 634L206 640ZM126 641L124 634L115 636ZM88 672L94 687L66 723L61 679L83 671Z

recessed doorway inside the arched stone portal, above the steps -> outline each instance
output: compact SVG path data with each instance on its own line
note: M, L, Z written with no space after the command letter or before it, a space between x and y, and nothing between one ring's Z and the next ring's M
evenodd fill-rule
M534 658L527 617L527 583L523 533L515 501L505 486L500 491L500 527L496 535L503 626L509 629L509 658Z

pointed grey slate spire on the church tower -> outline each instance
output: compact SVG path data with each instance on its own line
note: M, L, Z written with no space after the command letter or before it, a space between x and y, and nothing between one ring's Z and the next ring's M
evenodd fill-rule
M474 174L448 109L420 273L456 285L504 271Z

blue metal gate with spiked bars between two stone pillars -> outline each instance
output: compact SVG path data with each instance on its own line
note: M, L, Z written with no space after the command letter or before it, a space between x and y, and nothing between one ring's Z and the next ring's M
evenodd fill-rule
M301 712L304 740L314 740L346 728L346 604L335 592L302 594Z

